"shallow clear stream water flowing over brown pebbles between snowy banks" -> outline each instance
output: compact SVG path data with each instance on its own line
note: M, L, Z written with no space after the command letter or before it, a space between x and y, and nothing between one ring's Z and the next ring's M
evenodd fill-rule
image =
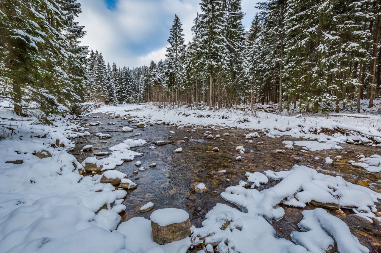
M99 118L93 118L99 116ZM138 184L135 190L129 190L127 198L123 202L126 205L126 213L122 216L123 221L132 217L142 216L149 218L151 212L139 213L137 210L147 202L153 202L155 209L160 208L180 208L190 214L192 225L201 226L205 219L205 214L212 209L216 203L224 203L233 206L224 201L220 193L226 187L238 185L240 180L246 180L245 172L263 172L266 170L282 171L290 169L294 164L306 165L317 169L319 172L331 176L342 176L345 180L371 188L377 192L381 190L380 173L367 172L366 169L354 168L345 161L357 161L357 155L363 154L366 157L373 154L380 154L380 149L370 146L340 144L343 150L322 150L302 152L302 147L294 146L293 150L286 149L285 153L274 152L275 149L284 150L282 144L285 140L295 141L298 139L290 136L279 138L269 138L261 134L258 130L242 129L224 129L209 130L207 128L195 127L196 132L191 132L192 128L176 129L173 126L154 125L146 128L136 128L136 123L129 124L127 120L118 118L109 118L107 114L91 114L83 118L83 123L95 122L99 120L103 125L88 126L91 136L80 138L76 147L71 151L78 161L83 161L92 153L108 151L109 147L123 142L125 139L138 138L144 139L149 144L141 147L135 147L131 150L143 153L142 157L136 157L134 161L125 162L115 168L124 172L133 182ZM108 125L112 122L115 125ZM133 132L122 133L123 126L130 126ZM170 131L175 133L170 134ZM221 138L207 140L203 138L205 131L211 131L213 136L220 134ZM245 142L245 134L259 132L260 138L253 139L253 143ZM228 132L229 136L223 134ZM99 139L96 133L108 133L112 136L110 139ZM141 136L135 136L141 133ZM188 137L189 141L175 144ZM149 149L154 141L174 142L163 146L156 146L156 149ZM263 142L263 144L257 144ZM92 144L92 152L82 152L82 147ZM245 155L242 161L235 161L238 153L235 147L242 145L245 148ZM182 153L174 153L178 147L182 147ZM218 147L219 152L213 152L213 147ZM345 151L347 153L342 153ZM335 161L336 156L342 159ZM314 160L319 157L319 160ZM331 157L334 160L332 165L324 163L325 157ZM102 158L102 157L98 157ZM145 172L138 172L134 175L132 172L138 169L134 165L135 161L141 161L141 166L147 168ZM157 166L150 168L149 164L156 163ZM218 172L226 170L226 173ZM228 180L229 179L229 180ZM192 183L203 182L208 190L198 193L192 190ZM276 182L269 180L264 186L258 187L258 190L272 187ZM377 203L376 203L377 204ZM282 204L281 204L282 205ZM285 216L280 221L274 221L277 236L290 238L291 231L300 231L299 221L303 218L302 211L305 209L314 209L315 206L309 206L301 209L284 206ZM155 210L154 209L154 210ZM381 210L381 205L377 204L377 209ZM351 232L359 238L360 242L370 248L370 252L381 252L381 226L378 224L369 225L366 222L353 219L349 216L352 211L343 209L342 211L326 209L331 214L346 221Z

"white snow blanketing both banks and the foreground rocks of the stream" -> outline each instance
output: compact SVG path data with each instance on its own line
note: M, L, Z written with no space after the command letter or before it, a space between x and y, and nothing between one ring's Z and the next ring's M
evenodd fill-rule
M104 106L94 112L107 112L113 117L137 117L147 125L165 123L179 128L200 125L262 131L249 134L250 141L261 134L273 138L287 134L305 140L284 143L285 148L303 146L306 152L340 149L340 144L345 142L373 146L381 143L379 115L306 117L257 112L251 116L248 112L227 109L168 110L150 105ZM9 116L6 111L0 114ZM303 212L304 218L299 223L302 232L293 232L293 241L275 237L269 222L283 217L284 210L279 203L303 207L311 200L351 207L354 213L370 222L373 222L372 218L380 219L375 216L375 202L381 199L381 194L345 182L340 176L327 176L306 166L294 166L282 172L248 173L248 182L253 182L251 189L240 183L221 193L222 198L242 207L245 212L217 204L207 213L201 228L192 227L192 238L158 245L152 240L150 221L146 218L131 218L117 227L118 213L125 209L121 204L125 190L115 190L109 183L100 183L100 175L80 175L87 160L106 171L103 172L105 176L115 176L123 181L121 173L107 171L139 155L129 149L144 145L144 140L125 140L110 147L109 157L100 160L89 157L81 164L67 153L74 147L72 138L90 134L77 122L56 117L52 126L37 126L24 119L22 125L13 128L5 129L6 138L0 141L1 252L185 253L189 247L202 242L205 250L199 252L212 252L214 246L220 253L302 253L325 252L336 242L340 252L365 253L369 250L359 244L348 226L324 209ZM322 130L328 133L327 130L335 128L344 132L322 133ZM345 131L346 135L343 134ZM244 153L244 150L240 151ZM380 163L377 155L353 161L353 164L372 171L377 171ZM281 181L263 191L255 189L266 184L268 178ZM169 223L184 220L184 217L174 216Z

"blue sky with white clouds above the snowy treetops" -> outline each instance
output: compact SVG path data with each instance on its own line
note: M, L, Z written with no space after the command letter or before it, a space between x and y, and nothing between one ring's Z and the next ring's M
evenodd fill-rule
M79 0L82 14L77 21L87 34L82 44L102 51L106 62L118 66L149 65L165 58L165 47L174 14L182 22L186 43L200 0ZM258 0L242 0L246 29L255 16Z

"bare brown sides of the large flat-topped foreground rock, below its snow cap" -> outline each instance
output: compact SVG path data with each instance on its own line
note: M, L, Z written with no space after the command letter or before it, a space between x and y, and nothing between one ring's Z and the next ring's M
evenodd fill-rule
M166 209L172 209L172 208L166 208ZM159 210L156 210L155 212L161 211L161 210L165 210L165 209L159 209ZM167 244L167 243L178 241L188 236L191 236L192 225L189 218L179 223L172 223L166 226L160 226L159 224L155 223L152 219L152 215L155 212L151 214L151 229L152 229L152 236L153 236L154 242L158 244ZM170 215L170 213L168 213L168 215Z

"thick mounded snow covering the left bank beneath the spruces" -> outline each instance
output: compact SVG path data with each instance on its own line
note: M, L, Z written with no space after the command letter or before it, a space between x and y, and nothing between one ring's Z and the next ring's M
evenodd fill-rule
M125 206L110 205L126 192L99 183L100 176L80 176L82 165L67 153L74 147L69 138L85 136L84 129L59 118L53 119L55 126L32 123L23 121L21 139L16 134L0 141L1 251L64 253L78 251L78 245L86 252L124 248L124 236L111 230L120 220L117 211ZM56 139L65 147L51 147ZM33 155L41 150L52 157ZM8 157L24 162L5 163ZM107 209L96 214L104 205Z

